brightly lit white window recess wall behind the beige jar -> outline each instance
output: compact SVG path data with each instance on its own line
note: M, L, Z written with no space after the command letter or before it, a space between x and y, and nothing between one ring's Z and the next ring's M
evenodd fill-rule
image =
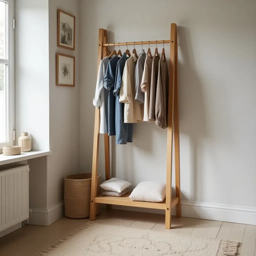
M49 150L48 0L15 1L15 129Z

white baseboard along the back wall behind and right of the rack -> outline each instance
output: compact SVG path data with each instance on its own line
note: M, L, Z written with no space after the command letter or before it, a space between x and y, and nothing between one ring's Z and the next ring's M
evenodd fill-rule
M106 208L104 204L102 204L102 207ZM112 205L112 209L165 214L164 210L121 205ZM172 209L172 215L176 215L175 208ZM181 215L190 218L256 225L256 208L250 207L181 201Z

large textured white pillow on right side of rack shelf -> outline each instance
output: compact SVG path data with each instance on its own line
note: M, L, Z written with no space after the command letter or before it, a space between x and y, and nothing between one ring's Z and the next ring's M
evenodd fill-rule
M133 189L130 199L144 202L163 202L166 197L166 184L159 181L144 181Z

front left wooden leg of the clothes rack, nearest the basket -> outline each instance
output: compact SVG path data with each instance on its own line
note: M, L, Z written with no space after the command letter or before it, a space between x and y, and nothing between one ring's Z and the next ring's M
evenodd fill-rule
M105 29L99 29L98 42L98 65L99 70L100 61L103 59L103 46ZM98 72L97 72L98 73ZM93 135L93 152L92 152L92 185L91 185L91 204L90 204L90 220L96 218L96 204L95 197L97 195L97 176L98 176L98 159L99 159L99 139L100 139L100 108L95 108L94 120L94 135Z

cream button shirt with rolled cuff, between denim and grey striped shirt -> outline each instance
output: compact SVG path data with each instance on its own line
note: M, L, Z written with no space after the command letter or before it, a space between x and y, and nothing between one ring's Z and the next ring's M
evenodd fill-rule
M135 54L126 60L120 88L119 102L124 103L124 123L142 122L141 106L135 100Z

